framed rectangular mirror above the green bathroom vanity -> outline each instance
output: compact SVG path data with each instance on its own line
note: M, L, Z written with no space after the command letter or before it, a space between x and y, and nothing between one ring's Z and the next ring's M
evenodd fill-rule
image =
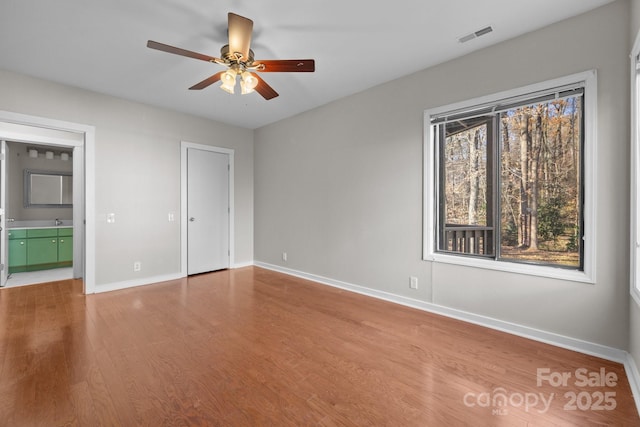
M71 172L24 170L25 208L70 208L73 206Z

